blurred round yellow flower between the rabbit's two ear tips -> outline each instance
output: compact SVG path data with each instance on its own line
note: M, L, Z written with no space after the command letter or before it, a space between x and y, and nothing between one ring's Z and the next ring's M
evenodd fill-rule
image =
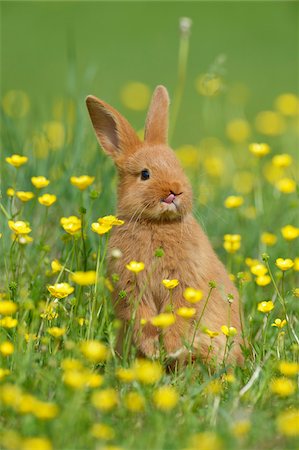
M146 109L150 100L150 88L137 81L127 83L121 90L121 100L123 104L134 111Z

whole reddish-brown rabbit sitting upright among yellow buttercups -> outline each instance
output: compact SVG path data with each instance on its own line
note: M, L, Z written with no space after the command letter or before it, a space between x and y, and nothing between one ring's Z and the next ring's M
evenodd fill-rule
M110 105L94 96L88 96L86 103L97 139L113 158L119 176L117 215L125 224L114 227L111 232L109 273L119 275L114 307L123 323L122 336L132 314L136 314L134 343L142 354L156 356L162 331L151 324L151 318L169 308L170 299L162 279L179 280L179 285L172 291L174 311L182 306L194 306L197 318L203 310L209 282L214 280L216 288L212 291L192 348L205 360L210 338L202 332L203 326L220 331L222 325L228 325L228 295L232 294L230 325L237 329L238 335L234 339L230 360L241 362L238 293L192 215L190 183L167 145L169 97L166 88L158 86L153 94L144 142ZM155 257L158 248L164 251L160 258ZM113 258L113 249L119 249L122 256ZM137 275L130 272L126 264L132 260L144 262L145 270ZM187 287L201 290L204 299L194 305L188 304L183 297ZM120 290L127 292L126 298L119 298ZM143 321L141 325L141 319L146 323ZM168 355L180 355L180 358L187 355L184 342L193 340L195 323L196 318L187 320L176 316L175 323L163 330ZM213 340L214 356L218 360L223 357L225 343L226 337L222 333Z

